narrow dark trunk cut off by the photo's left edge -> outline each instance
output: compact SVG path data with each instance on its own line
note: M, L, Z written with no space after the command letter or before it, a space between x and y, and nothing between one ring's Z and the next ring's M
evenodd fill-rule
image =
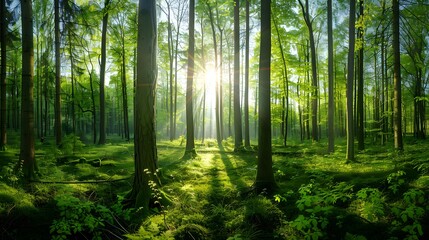
M0 44L1 44L1 70L0 70L0 84L1 84L1 103L0 103L0 150L6 150L6 34L7 34L7 21L6 21L6 0L0 2Z

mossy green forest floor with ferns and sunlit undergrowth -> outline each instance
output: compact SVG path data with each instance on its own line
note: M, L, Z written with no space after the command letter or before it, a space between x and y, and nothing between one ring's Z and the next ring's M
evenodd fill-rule
M170 205L136 223L120 204L132 143L38 143L40 182L23 184L12 136L0 152L0 239L429 239L429 142L409 140L402 154L368 142L346 163L337 141L333 154L323 141L274 145L274 193L252 191L255 151L206 140L183 160L184 143L160 141L155 197Z

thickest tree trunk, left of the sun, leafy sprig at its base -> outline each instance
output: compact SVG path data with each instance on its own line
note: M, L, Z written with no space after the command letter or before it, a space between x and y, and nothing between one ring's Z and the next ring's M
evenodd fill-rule
M160 184L155 133L155 87L157 79L156 1L140 0L138 10L137 79L134 98L134 182L126 199L133 207L149 212L151 192Z

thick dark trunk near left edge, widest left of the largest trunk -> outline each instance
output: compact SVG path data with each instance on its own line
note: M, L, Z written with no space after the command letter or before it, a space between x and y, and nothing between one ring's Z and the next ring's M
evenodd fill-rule
M22 18L22 96L21 96L21 151L26 180L33 180L37 171L34 157L34 109L33 109L33 9L31 0L21 1Z

